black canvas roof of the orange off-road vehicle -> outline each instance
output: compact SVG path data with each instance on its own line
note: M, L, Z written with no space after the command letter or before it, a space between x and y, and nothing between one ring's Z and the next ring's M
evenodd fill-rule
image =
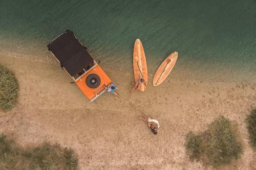
M76 39L70 30L55 38L47 47L70 76L75 76L83 68L87 70L90 67L89 64L94 61L87 48Z

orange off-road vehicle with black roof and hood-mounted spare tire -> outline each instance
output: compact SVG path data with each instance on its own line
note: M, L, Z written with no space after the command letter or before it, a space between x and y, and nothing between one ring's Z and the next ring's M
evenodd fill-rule
M111 84L111 79L72 31L59 35L47 47L90 101L104 93Z

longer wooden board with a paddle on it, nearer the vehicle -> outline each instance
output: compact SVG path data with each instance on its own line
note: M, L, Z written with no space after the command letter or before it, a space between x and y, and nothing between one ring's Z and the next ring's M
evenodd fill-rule
M134 43L133 50L133 73L135 83L141 77L147 82L147 66L146 66L146 56L144 53L144 48L140 39L136 39ZM146 89L146 85L143 84L140 87L140 91L144 91Z

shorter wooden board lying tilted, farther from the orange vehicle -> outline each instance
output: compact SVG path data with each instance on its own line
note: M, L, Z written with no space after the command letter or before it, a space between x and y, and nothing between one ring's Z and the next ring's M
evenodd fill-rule
M170 74L170 71L172 71L174 68L177 59L178 53L173 52L162 62L154 76L153 86L158 86L167 78L167 76Z

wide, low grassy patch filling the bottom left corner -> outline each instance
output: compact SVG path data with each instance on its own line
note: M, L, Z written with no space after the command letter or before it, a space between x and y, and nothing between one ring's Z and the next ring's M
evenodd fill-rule
M74 151L59 144L46 142L36 148L23 149L1 134L0 153L0 169L78 169Z

